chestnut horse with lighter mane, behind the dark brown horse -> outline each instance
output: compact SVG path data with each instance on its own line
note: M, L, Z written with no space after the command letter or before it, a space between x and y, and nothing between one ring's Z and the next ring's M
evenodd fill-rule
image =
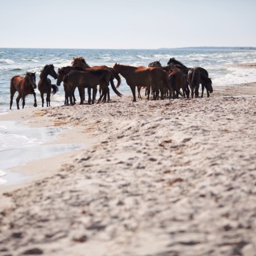
M112 79L116 79L117 80L117 86L115 86L115 88L118 88L121 84L121 78L120 76L118 75L117 72L115 72L115 70L112 68L112 67L107 67L106 65L100 65L100 66L93 66L93 67L90 67L86 61L85 61L85 58L83 57L73 57L73 60L71 62L71 65L72 67L81 67L81 68L85 68L86 70L88 70L88 68L93 68L93 69L101 69L101 68L107 68L109 69L109 71L111 72L112 74ZM101 90L101 88L99 88ZM114 88L112 88L113 91ZM118 95L118 92L115 91L115 94ZM104 96L105 98L105 96ZM110 101L110 96L109 96L109 88L107 88L107 101L109 102Z

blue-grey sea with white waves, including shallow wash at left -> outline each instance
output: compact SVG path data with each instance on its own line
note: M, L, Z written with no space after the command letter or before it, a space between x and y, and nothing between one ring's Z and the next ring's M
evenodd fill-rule
M39 74L46 64L53 64L56 72L60 67L71 65L73 57L82 56L90 66L115 63L147 66L150 62L160 60L167 65L171 57L175 57L187 67L204 67L212 78L213 90L217 86L237 86L241 83L256 81L255 68L241 67L241 64L256 63L256 49L251 47L193 47L177 49L18 49L0 48L0 115L16 110L15 98L12 110L10 104L10 79L26 72L36 72L36 83ZM52 83L56 80L48 76ZM116 83L116 81L114 81ZM38 89L38 108L41 107L41 97ZM110 91L112 91L110 89ZM131 94L130 87L122 78L118 89L122 94ZM112 93L114 94L114 93ZM79 98L78 95L76 97ZM64 104L64 88L60 85L59 92L51 97L51 106ZM22 102L20 101L20 106ZM27 96L25 107L33 107L33 96ZM19 111L22 111L19 110ZM9 173L11 167L19 166L40 157L67 152L83 147L81 145L45 146L53 136L61 133L57 128L25 128L22 123L0 122L0 186L20 182L25 177ZM42 134L44 134L42 136ZM41 146L40 146L41 145ZM43 148L44 146L44 148ZM36 153L38 152L38 153ZM14 157L17 154L20 157ZM48 153L48 154L47 154ZM18 155L19 155L18 154ZM25 160L24 160L25 159ZM10 176L10 179L6 176ZM15 176L15 178L14 178Z

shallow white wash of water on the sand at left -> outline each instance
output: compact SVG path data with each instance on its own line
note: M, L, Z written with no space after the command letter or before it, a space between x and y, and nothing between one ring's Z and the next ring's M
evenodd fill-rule
M23 125L23 122L1 121L0 186L20 183L28 178L22 173L10 171L11 168L85 147L84 144L46 144L54 141L65 129L67 128L31 128Z

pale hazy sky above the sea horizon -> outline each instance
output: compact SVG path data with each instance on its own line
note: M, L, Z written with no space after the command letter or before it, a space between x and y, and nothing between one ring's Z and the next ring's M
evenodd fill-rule
M256 1L1 0L0 24L0 47L255 47Z

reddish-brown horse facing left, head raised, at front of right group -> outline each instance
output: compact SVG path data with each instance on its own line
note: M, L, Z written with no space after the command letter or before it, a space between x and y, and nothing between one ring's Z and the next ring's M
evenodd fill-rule
M160 90L161 99L163 99L163 80L167 80L167 77L162 68L133 67L121 64L115 64L113 68L115 72L120 73L125 78L127 85L130 86L134 102L136 101L136 86L152 88L154 100L158 99Z

